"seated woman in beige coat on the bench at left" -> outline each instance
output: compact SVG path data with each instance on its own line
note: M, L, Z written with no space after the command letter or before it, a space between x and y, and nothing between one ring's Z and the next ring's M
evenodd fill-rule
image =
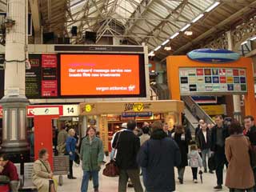
M34 162L32 182L37 186L38 192L56 192L57 180L50 170L49 154L46 149L39 151L39 159Z

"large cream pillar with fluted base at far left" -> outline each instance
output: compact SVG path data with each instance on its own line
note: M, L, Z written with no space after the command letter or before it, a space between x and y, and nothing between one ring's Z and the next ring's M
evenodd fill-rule
M7 1L7 16L15 21L6 29L5 94L3 108L2 153L14 162L29 159L26 142L25 60L27 0Z

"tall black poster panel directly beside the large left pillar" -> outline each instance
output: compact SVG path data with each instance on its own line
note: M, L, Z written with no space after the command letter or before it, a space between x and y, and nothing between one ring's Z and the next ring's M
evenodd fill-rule
M41 96L41 54L30 54L31 69L26 70L26 97Z

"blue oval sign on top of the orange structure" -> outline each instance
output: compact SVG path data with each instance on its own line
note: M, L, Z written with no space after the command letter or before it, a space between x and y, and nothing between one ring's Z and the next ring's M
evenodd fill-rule
M190 51L187 57L197 62L225 63L237 61L240 54L222 49L199 49Z

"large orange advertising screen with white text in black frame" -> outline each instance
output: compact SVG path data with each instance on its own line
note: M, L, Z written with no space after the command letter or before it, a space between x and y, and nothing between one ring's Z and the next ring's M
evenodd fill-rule
M142 56L139 54L61 54L61 95L145 96Z

